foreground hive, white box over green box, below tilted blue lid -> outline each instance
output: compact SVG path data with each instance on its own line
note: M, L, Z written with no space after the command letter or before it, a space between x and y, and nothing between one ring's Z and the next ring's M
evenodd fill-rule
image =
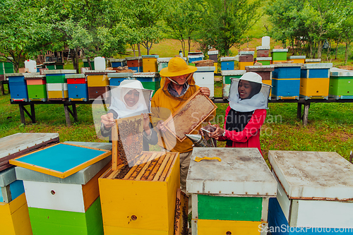
M109 154L64 178L16 167L16 175L25 185L33 234L103 234L98 177L110 167L111 155L107 150L112 144L67 144L96 147ZM75 153L85 155L80 151ZM79 164L74 161L66 160L66 164Z

